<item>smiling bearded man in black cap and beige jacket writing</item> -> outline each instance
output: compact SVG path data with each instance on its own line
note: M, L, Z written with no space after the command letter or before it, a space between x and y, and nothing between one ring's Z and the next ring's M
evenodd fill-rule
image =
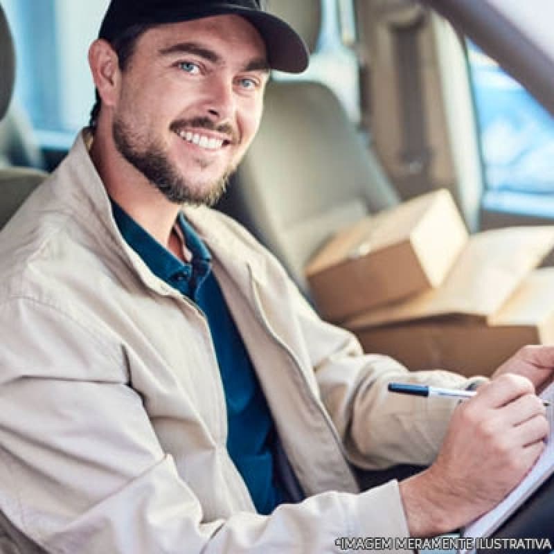
M112 0L89 63L91 125L0 235L0 523L21 553L332 553L458 528L517 485L554 348L491 382L364 355L208 207L270 69L305 69L292 28L254 0ZM393 380L481 386L456 408ZM359 491L352 467L396 463L431 466Z

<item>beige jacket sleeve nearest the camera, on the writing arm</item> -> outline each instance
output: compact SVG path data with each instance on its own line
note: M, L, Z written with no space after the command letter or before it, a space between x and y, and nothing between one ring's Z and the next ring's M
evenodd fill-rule
M204 521L107 332L30 298L0 305L0 327L0 508L44 551L325 554L407 536L395 482Z

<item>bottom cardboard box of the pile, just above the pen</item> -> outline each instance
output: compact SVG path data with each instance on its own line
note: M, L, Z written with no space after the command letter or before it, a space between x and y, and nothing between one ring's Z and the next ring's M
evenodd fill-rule
M411 370L490 375L521 346L554 343L554 268L528 275L486 318L443 316L355 332L366 352L393 356Z

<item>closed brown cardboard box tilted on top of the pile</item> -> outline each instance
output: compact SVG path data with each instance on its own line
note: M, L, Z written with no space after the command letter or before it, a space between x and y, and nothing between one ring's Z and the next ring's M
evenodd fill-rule
M438 190L339 232L305 272L319 312L343 321L438 287L466 242L452 195Z

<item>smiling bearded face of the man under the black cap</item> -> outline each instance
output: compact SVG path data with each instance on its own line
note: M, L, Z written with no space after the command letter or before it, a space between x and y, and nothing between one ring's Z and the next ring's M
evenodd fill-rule
M258 130L268 75L242 17L152 28L121 73L116 148L171 202L213 204Z

